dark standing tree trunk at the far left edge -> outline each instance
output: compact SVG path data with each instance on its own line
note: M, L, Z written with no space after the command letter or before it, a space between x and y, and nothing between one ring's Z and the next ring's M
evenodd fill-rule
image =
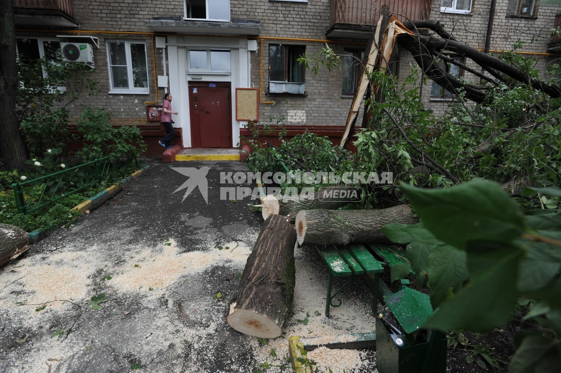
M3 2L0 16L0 151L8 170L24 169L27 156L16 117L16 31L13 0Z

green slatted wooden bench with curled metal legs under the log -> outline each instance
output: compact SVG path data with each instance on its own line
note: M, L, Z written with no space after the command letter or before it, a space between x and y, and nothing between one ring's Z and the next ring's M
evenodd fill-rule
M364 287L369 294L373 296L373 300L366 301L372 303L372 310L375 313L378 307L378 282L380 273L384 271L382 263L370 253L370 251L361 243L352 243L351 245L327 245L323 247L316 246L321 259L327 264L329 268L329 281L327 285L327 300L325 301L325 316L329 316L329 307L341 306L339 303L333 303L333 299L350 284L353 280L358 282ZM374 275L375 291L370 291L364 282L362 282L360 275ZM335 277L350 277L347 282L343 284L335 293L332 294L333 276Z

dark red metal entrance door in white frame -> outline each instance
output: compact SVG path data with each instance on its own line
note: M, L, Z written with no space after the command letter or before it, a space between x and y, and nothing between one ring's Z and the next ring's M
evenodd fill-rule
M191 83L191 139L193 148L232 147L230 85Z

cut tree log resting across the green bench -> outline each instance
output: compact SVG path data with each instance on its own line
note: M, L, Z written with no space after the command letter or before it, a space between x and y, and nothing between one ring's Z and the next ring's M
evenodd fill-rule
M419 219L407 205L380 210L302 210L296 215L296 236L298 245L392 243L380 231L390 223L415 224Z

